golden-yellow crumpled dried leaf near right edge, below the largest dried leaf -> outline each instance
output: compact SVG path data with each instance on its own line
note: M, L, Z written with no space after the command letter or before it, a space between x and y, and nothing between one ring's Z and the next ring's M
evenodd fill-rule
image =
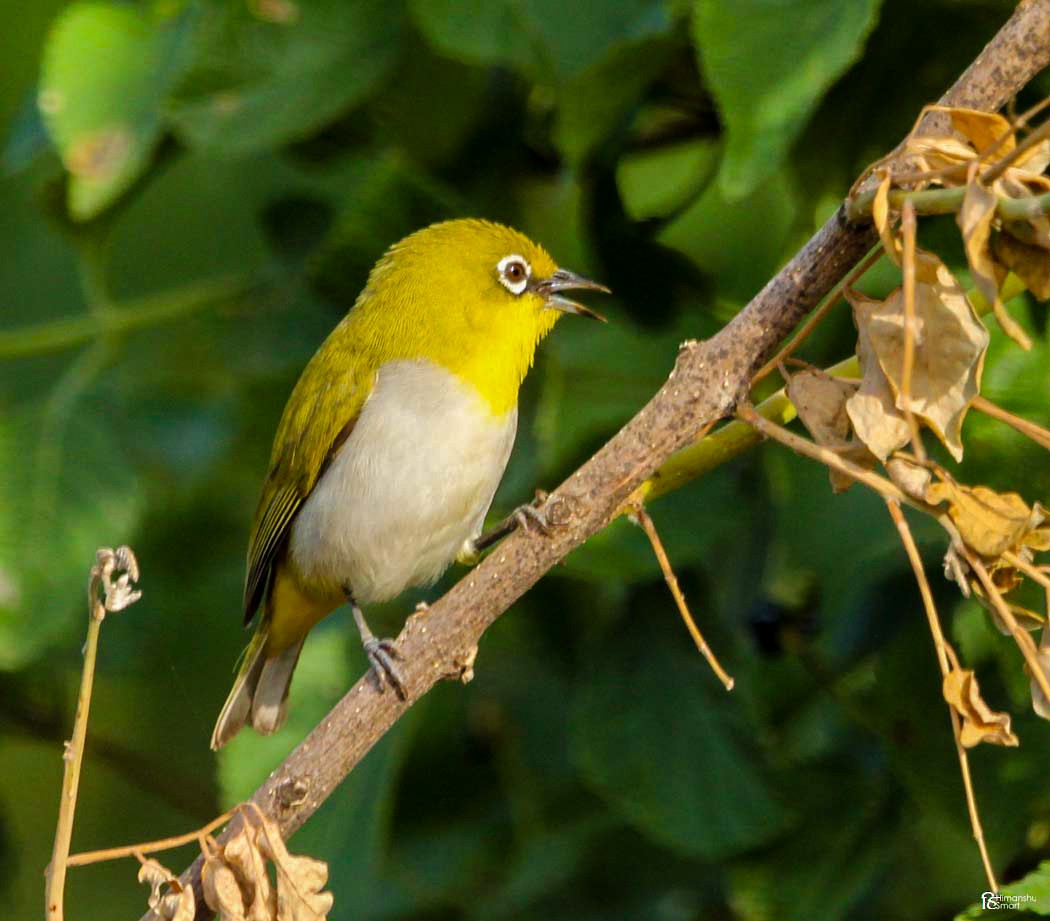
M1016 493L996 493L987 486L966 486L950 480L926 490L931 505L948 502L948 517L971 550L986 558L1021 546L1029 531L1032 509Z

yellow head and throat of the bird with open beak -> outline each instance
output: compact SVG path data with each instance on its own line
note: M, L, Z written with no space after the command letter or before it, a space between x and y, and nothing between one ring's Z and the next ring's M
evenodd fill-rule
M504 413L517 403L537 344L563 313L601 319L562 296L573 289L608 290L559 269L543 247L509 227L448 221L391 247L348 325L377 363L441 364Z

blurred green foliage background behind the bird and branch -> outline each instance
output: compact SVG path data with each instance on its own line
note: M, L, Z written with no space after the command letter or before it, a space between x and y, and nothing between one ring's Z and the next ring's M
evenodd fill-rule
M246 639L270 438L386 246L486 216L616 292L608 328L565 322L543 348L503 514L626 421L677 342L732 316L1011 5L22 6L0 30L6 917L41 906L97 545L133 545L145 594L103 630L78 850L207 820L363 670L337 614L307 646L287 729L208 751ZM961 264L944 222L922 232ZM1020 310L1036 347L996 332L986 395L1048 424L1046 314ZM805 355L853 347L840 311ZM1045 453L972 414L966 439L964 480L1050 499ZM737 689L616 523L299 834L331 863L333 918L936 919L979 898L932 646L879 501L833 497L823 470L768 447L652 514ZM936 570L942 542L917 532ZM1016 714L1020 750L972 755L996 868L1016 879L1050 856L1050 728L1009 642L934 588L987 699ZM440 590L377 620L396 631ZM138 917L133 878L130 862L74 870L68 917Z

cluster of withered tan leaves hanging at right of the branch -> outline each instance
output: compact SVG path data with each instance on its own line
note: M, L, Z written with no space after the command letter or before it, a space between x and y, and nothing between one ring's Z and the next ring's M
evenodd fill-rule
M957 462L963 461L963 422L981 393L990 339L976 308L990 309L1004 333L1022 348L1031 347L1000 291L1012 271L1035 297L1050 297L1050 218L1043 203L1034 201L1050 192L1050 177L1044 175L1050 165L1050 127L1018 140L1018 125L1001 114L931 108L941 113L941 132L914 131L855 186L857 194L869 196L882 249L904 277L902 287L883 299L848 288L844 292L857 325L860 381L805 370L791 376L788 395L817 444L865 469L881 463L911 504L941 521L952 539L946 572L1017 640L1032 676L1033 707L1050 718L1047 614L1004 598L1033 578L1048 588L1050 603L1050 569L1035 562L1036 553L1050 550L1047 512L1017 493L957 481L926 459L922 441L922 432L931 432ZM919 248L915 233L899 226L895 205L914 206L901 193L931 186L962 192L952 201L979 295L973 299L939 256ZM1024 207L1007 200L1025 200ZM914 218L904 216L905 227L914 227ZM987 407L987 401L982 405ZM832 465L836 491L852 482ZM901 493L887 496L900 498ZM1037 655L1021 624L1028 629L1044 625ZM960 666L943 637L939 642L948 655L942 660L944 696L959 717L962 745L1017 745L1010 717L988 707L973 672Z

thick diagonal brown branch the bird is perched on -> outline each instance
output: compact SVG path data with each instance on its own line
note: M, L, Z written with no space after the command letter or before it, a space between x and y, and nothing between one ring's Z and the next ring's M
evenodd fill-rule
M998 109L1050 63L1050 0L1026 0L943 102ZM332 794L397 719L438 681L458 675L485 630L552 566L605 527L631 494L705 425L747 395L755 370L872 248L875 230L840 208L723 330L679 350L667 383L547 501L546 537L519 530L398 637L406 699L362 677L255 792L287 838ZM225 840L242 823L235 818ZM201 889L202 860L183 874ZM203 904L200 899L198 904ZM209 917L206 910L198 919ZM156 916L147 914L156 921Z

